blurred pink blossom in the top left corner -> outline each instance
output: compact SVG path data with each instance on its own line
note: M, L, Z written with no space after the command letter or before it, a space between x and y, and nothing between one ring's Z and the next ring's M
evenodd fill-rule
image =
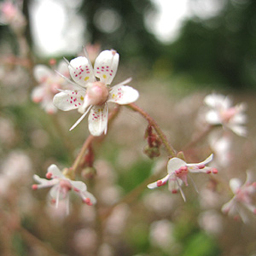
M15 32L22 32L26 18L15 3L7 0L0 3L0 23L9 25Z

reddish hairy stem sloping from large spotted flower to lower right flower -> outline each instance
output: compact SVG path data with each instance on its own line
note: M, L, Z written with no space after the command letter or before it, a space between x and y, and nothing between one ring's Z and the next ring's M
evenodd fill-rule
M131 103L127 106L129 108L133 109L134 111L136 111L137 113L140 113L143 116L143 118L147 119L148 124L152 125L154 127L154 131L156 131L156 133L160 137L161 142L165 145L166 150L167 150L168 154L170 155L170 157L175 157L176 152L175 152L174 148L172 148L170 143L168 143L166 135L164 134L163 131L161 131L160 126L154 121L154 119L151 118L151 116L148 113L146 113L142 108L139 108L134 103Z

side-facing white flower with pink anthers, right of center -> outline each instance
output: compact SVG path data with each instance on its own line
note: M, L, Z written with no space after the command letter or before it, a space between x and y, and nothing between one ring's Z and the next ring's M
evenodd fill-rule
M207 157L206 160L198 164L187 164L184 160L181 160L177 157L173 157L168 161L167 164L167 175L162 179L148 184L148 189L155 189L162 185L165 185L168 182L168 188L172 191L173 194L177 193L177 190L180 191L183 200L186 201L185 195L181 188L182 183L185 183L188 186L188 177L190 173L218 173L217 169L206 166L212 160L212 154ZM196 189L196 188L195 188ZM197 189L196 189L197 190Z

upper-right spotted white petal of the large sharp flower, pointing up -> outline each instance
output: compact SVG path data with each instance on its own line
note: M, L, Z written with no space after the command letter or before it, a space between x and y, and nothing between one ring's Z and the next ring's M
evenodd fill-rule
M103 50L97 56L94 73L104 84L111 84L119 66L119 54L115 50Z

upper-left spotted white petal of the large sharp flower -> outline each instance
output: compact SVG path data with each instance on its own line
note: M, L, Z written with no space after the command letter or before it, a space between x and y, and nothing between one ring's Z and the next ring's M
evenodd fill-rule
M81 86L95 82L95 75L90 61L85 57L78 57L70 61L68 69L73 80Z

